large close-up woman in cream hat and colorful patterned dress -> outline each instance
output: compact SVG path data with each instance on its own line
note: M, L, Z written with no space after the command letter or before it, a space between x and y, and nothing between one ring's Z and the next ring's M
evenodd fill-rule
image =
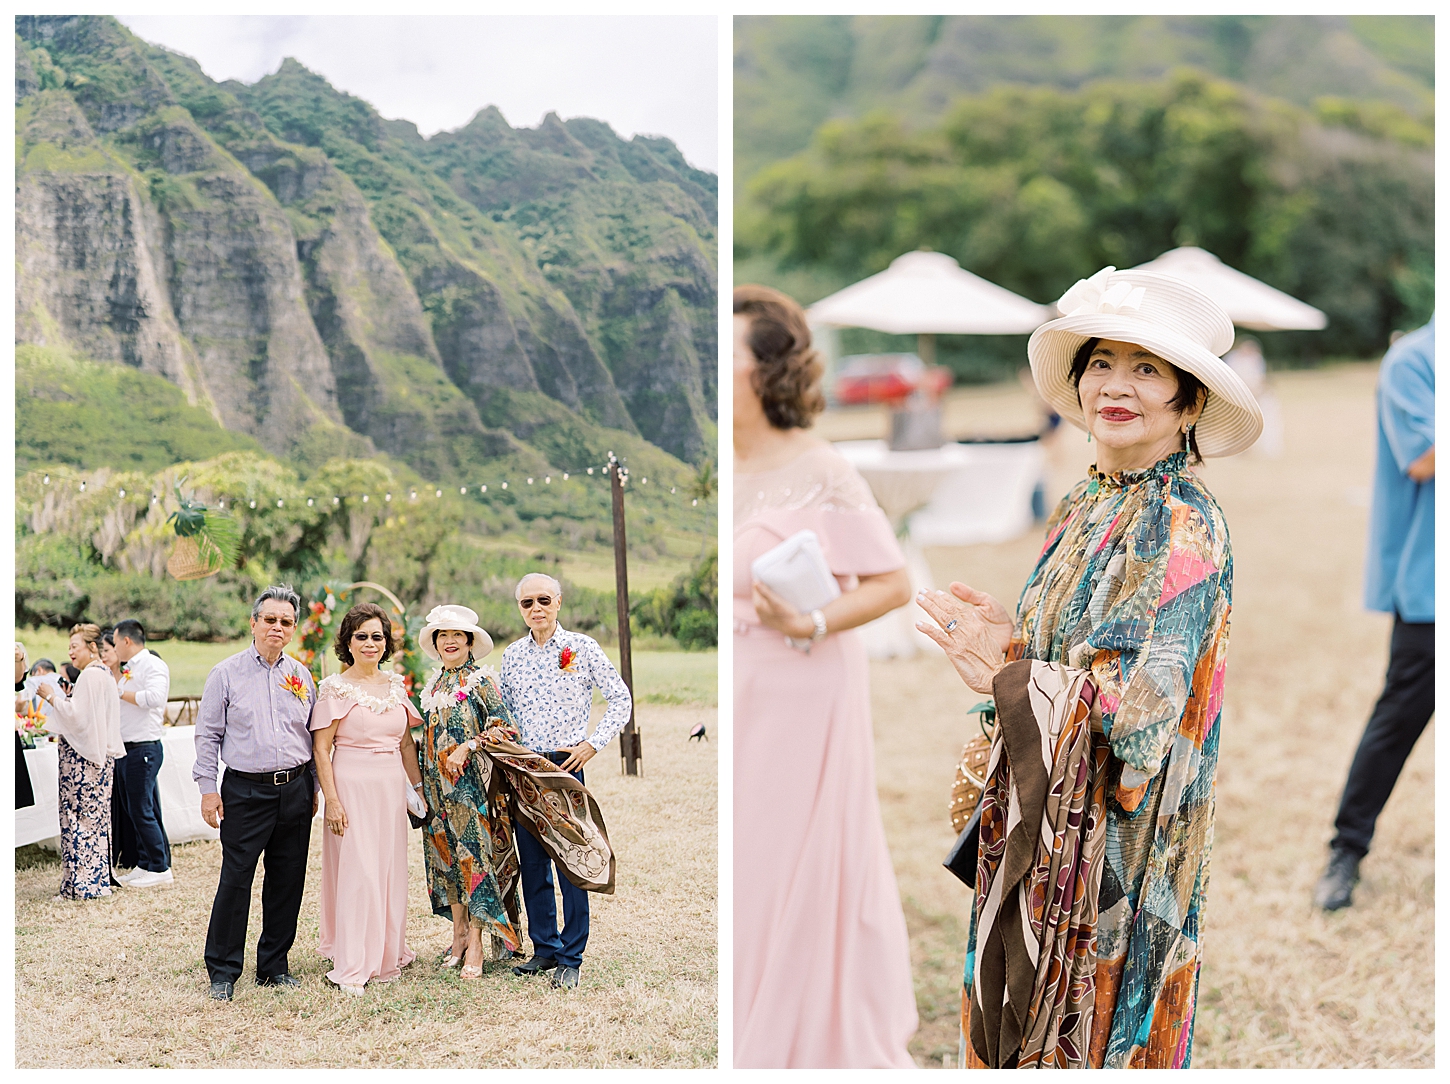
M1253 445L1262 416L1221 361L1228 316L1185 283L1105 268L1058 309L1032 375L1096 465L1015 620L964 584L919 596L935 625L918 628L998 709L963 1064L1186 1068L1232 594L1228 526L1190 467Z

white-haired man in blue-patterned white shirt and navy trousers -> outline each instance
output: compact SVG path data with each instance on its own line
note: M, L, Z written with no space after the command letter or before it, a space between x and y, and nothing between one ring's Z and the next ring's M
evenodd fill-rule
M500 684L503 701L519 727L519 742L583 783L584 764L629 722L632 700L599 642L560 628L561 596L563 588L551 575L531 572L519 580L513 597L519 600L529 635L503 649ZM590 736L589 709L596 688L609 701L609 709ZM560 932L554 910L554 864L526 830L515 835L534 958L513 968L513 974L536 975L552 970L555 987L577 987L589 941L589 893L571 884L560 870L564 899L564 929Z

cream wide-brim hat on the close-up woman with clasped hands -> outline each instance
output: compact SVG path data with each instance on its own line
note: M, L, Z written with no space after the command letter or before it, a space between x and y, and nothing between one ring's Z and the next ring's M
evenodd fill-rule
M1205 458L1234 455L1259 439L1263 412L1222 359L1234 345L1234 325L1202 290L1154 271L1105 267L1077 280L1057 310L1061 319L1032 332L1027 357L1038 393L1079 429L1088 429L1088 422L1073 384L1073 355L1088 339L1118 339L1150 349L1204 381L1209 394L1193 433Z

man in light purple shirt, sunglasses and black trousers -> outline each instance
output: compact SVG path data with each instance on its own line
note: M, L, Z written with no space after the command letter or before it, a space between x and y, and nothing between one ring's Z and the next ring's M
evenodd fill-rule
M196 767L202 817L222 830L222 877L206 930L212 997L231 1001L246 954L246 912L257 859L267 854L257 985L293 988L287 951L307 875L307 843L318 812L307 722L316 688L312 674L283 655L302 612L287 584L268 587L252 606L252 643L218 662L206 677L196 720ZM218 759L226 764L216 785Z

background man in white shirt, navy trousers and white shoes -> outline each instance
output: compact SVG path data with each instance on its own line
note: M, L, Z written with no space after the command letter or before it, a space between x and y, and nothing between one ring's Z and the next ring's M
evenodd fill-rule
M171 671L146 651L146 632L136 620L116 625L116 658L122 664L120 739L126 755L116 761L116 790L136 832L136 868L117 874L128 888L171 883L171 843L161 823L161 735L171 694Z

